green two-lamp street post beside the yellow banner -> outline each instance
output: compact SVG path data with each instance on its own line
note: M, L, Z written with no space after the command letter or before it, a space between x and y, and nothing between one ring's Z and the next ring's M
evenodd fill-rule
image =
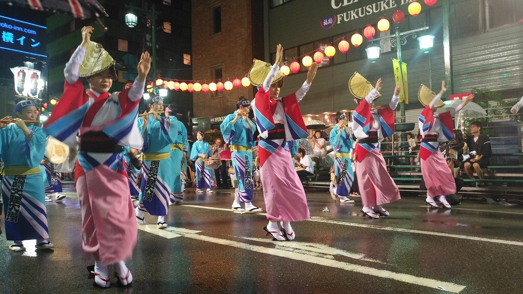
M386 42L390 42L390 46L392 48L397 47L396 53L397 53L397 60L399 60L400 63L400 77L401 77L401 85L403 86L403 71L402 68L402 59L401 59L401 46L407 43L407 38L412 37L415 39L417 37L417 33L419 31L428 31L428 27L423 27L419 29L414 29L406 32L400 33L400 26L396 24L396 33L394 36L387 36L387 37L381 37L374 39L375 41L380 41L381 44L385 44ZM429 48L432 48L432 45L434 44L434 36L431 36L429 34L423 34L418 38L419 41L419 47L420 49L424 50L425 52L428 52L427 50ZM379 57L379 50L378 50L378 57ZM376 59L377 57L374 55L373 59ZM371 56L369 55L369 59L371 59ZM400 123L405 123L405 101L400 102ZM401 129L401 144L400 144L400 150L402 152L408 151L408 143L407 143L407 134L405 131L412 131L412 129L407 130L406 126L403 125ZM407 159L402 158L402 164L406 164Z

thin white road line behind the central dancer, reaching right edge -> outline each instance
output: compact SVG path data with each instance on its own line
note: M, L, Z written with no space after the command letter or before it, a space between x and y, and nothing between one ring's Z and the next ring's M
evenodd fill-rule
M210 206L198 206L198 205L184 205L184 206L195 207L195 208L204 208L204 209L232 211L230 209L218 208L218 207L210 207ZM251 213L251 214L259 214L259 215L262 215L262 216L266 216L267 215L266 213L260 213L260 212ZM402 228L394 228L394 227L380 227L379 225L373 225L373 224L343 222L343 221L335 221L335 220L329 220L329 219L324 219L324 218L314 218L314 217L312 217L308 221L324 222L324 223L332 223L332 224L341 224L341 225L350 225L351 227L360 227L360 228L367 228L367 229L377 229L377 230L395 231L395 232L404 232L404 233L415 233L415 234L433 235L433 236L441 236L441 237L448 237L448 238L465 239L465 240L472 240L472 241L482 241L482 242L491 242L491 243L523 246L523 242L518 242L518 241L510 241L510 240L503 240L503 239L488 239L488 238L481 238L481 237L475 237L475 236L448 234L448 233L421 231L421 230L410 230L410 229L402 229Z

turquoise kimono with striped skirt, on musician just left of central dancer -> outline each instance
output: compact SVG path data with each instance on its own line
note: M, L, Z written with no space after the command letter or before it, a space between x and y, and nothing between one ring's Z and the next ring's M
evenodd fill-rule
M234 125L232 121L236 117L236 111L225 117L220 129L225 143L230 144L232 148L232 165L234 173L238 179L236 193L240 201L251 202L253 200L253 146L256 145L254 133L256 132L256 123L251 122L251 129L245 120L238 119Z

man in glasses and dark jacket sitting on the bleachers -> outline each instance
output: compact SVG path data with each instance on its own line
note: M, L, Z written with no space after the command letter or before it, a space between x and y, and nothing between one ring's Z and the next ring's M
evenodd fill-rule
M465 161L463 167L465 168L465 173L469 178L474 179L474 172L476 172L477 177L483 179L482 168L488 166L490 157L492 155L490 138L487 135L481 133L481 128L483 125L480 121L473 121L470 124L470 132L465 143L469 146L469 154L473 151L476 152L475 157L471 156L470 159ZM472 168L474 168L474 172ZM477 186L483 186L483 183L476 184Z

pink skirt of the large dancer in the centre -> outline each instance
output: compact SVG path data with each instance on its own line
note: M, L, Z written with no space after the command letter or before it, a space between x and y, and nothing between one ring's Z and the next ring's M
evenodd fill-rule
M291 154L281 146L260 168L261 184L271 221L302 221L309 219L309 206L298 174L292 166Z

